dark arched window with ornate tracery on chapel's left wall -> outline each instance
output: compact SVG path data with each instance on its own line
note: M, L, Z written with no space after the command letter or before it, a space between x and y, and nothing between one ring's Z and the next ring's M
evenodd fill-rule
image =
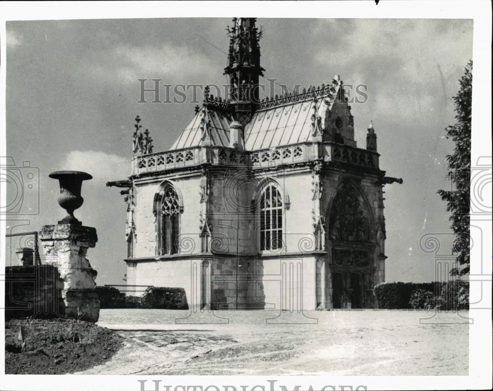
M167 187L156 206L158 224L158 255L171 255L179 251L178 232L180 206L173 187Z

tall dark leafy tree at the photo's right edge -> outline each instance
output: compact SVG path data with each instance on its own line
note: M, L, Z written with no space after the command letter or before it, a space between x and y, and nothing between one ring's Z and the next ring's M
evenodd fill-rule
M449 172L447 178L453 183L452 190L438 190L442 200L447 202L451 212L452 230L455 234L452 251L458 254L461 265L451 270L451 275L469 273L469 201L471 183L471 102L472 102L472 61L465 68L459 80L460 88L453 98L456 105L456 123L445 128L447 139L455 142L452 154L447 155Z

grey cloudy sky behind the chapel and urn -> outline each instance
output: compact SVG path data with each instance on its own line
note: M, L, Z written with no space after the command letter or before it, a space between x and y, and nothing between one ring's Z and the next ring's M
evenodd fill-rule
M7 231L55 224L65 211L56 201L58 183L48 174L86 171L93 179L82 185L85 201L75 216L96 227L99 238L87 257L98 284L124 284L126 204L120 189L105 183L130 174L136 115L158 152L173 144L196 105L190 93L183 103L151 103L152 95L138 103L139 79L224 84L230 23L221 18L7 22L7 155L12 172L23 178L23 185L7 186L7 205L16 207ZM454 123L452 97L472 58L472 20L259 18L257 26L264 31L261 83L276 79L291 88L308 87L340 74L345 84L367 86L368 99L351 105L355 139L365 147L373 120L380 168L404 180L385 186L386 281L441 279L435 253L420 243L436 237L440 255L450 254L449 213L437 190L451 187L445 157L454 145L444 128ZM26 240L7 242L7 264L9 252L14 256Z

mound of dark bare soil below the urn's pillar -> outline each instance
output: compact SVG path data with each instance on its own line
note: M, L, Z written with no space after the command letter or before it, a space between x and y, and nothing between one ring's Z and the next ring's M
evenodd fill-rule
M22 324L25 349L18 339ZM107 328L73 319L12 319L5 323L5 373L58 375L100 365L122 346Z

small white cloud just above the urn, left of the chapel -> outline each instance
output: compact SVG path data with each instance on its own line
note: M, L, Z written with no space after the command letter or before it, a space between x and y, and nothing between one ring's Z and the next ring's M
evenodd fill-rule
M103 151L75 150L69 152L59 170L85 171L93 180L106 182L127 178L131 170L128 158Z

